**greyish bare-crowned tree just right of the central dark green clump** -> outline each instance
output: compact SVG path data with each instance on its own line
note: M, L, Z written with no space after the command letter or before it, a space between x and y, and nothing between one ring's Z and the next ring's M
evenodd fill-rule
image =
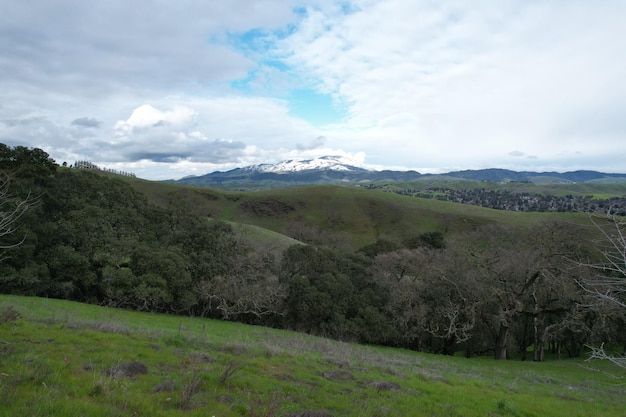
M474 281L452 249L401 249L376 256L373 273L389 292L385 305L395 345L454 354L475 323Z

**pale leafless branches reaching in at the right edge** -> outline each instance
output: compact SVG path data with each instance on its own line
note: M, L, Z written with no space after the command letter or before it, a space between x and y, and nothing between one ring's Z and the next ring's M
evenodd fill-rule
M606 217L591 217L602 235L597 244L601 252L601 263L581 263L591 271L580 282L589 295L589 308L603 315L626 317L626 219L614 214ZM626 341L624 341L626 343ZM605 350L605 344L591 347L590 359L609 360L626 368L626 347L621 355Z

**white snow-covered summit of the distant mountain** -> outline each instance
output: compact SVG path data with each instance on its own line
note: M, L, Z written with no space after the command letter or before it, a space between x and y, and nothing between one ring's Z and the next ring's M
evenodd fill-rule
M289 160L276 164L260 164L250 165L241 168L242 171L254 172L272 172L275 174L284 174L291 172L302 172L309 170L330 170L330 171L367 171L367 169L359 166L360 163L343 156L321 156L314 159Z

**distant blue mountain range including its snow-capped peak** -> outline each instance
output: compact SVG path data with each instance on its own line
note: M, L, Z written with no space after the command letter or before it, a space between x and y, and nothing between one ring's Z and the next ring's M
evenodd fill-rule
M323 156L306 160L288 160L276 164L250 165L230 171L217 171L168 182L222 189L253 190L284 188L310 184L357 184L381 181L470 180L491 182L532 182L536 184L626 183L626 174L597 171L531 172L507 169L453 171L446 174L421 174L417 171L375 171L357 161L341 156Z

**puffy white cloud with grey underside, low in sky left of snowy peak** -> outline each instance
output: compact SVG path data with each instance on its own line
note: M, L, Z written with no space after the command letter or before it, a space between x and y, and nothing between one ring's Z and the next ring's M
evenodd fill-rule
M280 101L240 97L143 104L115 122L111 132L108 140L92 144L92 155L102 164L144 160L207 169L264 162L290 152L294 139L316 133L289 116ZM311 145L322 143L318 138Z

